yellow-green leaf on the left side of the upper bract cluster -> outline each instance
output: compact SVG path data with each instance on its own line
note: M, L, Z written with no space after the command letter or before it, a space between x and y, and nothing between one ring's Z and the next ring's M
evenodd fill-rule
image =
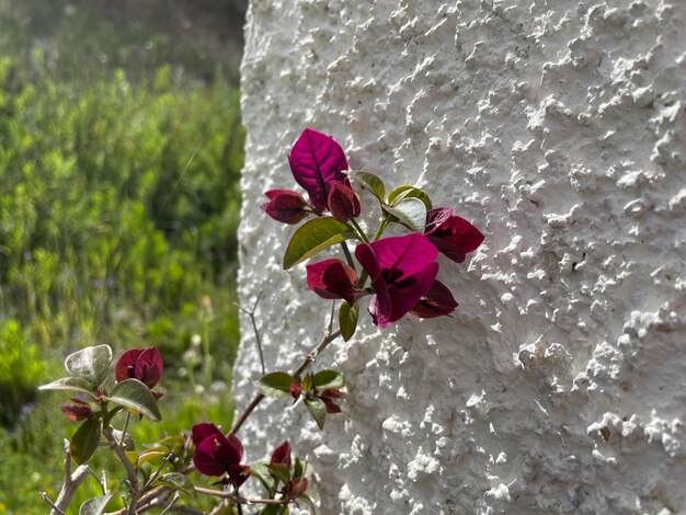
M284 253L284 270L288 270L318 252L353 238L353 229L335 218L315 218L302 224L293 234Z

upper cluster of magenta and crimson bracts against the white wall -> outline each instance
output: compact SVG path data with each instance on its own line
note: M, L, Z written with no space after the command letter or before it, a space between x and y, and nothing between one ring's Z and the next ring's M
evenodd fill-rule
M288 156L296 182L309 195L307 202L298 192L271 190L261 208L284 224L299 224L308 216L327 211L341 222L361 214L359 198L351 187L345 170L347 161L335 140L321 133L305 129ZM451 313L457 302L450 290L436 279L438 253L461 263L483 241L483 234L449 207L426 213L423 233L388 237L359 243L355 258L371 281L370 289L359 283L357 272L341 260L330 259L307 266L310 289L325 299L344 299L352 305L373 294L369 313L375 324L385 328L408 312L422 318Z

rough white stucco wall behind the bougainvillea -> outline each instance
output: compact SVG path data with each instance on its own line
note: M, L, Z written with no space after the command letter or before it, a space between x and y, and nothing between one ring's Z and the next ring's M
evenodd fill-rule
M344 413L319 432L265 402L249 456L290 437L325 514L686 513L685 78L683 0L252 1L240 296L263 290L267 368L330 309L259 209L294 187L302 128L487 239L441 261L453 319L364 317L318 362ZM239 404L260 375L242 322Z

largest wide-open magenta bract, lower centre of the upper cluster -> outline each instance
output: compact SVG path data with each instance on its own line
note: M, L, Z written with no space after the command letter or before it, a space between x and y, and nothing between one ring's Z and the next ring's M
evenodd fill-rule
M375 295L369 313L375 324L385 328L416 306L434 285L437 255L436 248L419 233L357 245L355 256L371 278Z

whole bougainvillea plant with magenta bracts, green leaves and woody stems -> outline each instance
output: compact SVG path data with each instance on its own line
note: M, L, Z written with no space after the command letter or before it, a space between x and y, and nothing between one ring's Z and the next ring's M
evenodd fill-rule
M81 505L80 514L105 513L116 495L125 507L113 513L137 514L153 507L165 513L182 494L191 500L198 494L217 499L219 504L213 513L242 514L250 507L256 510L251 513L286 514L291 503L304 503L313 512L315 503L308 493L312 467L293 457L288 440L272 450L268 461L245 462L243 445L237 436L243 423L265 397L301 402L320 428L327 415L342 411L343 376L332 369L316 370L315 364L333 340L342 336L347 342L353 337L363 302L371 323L380 329L405 316L436 318L449 316L457 308L449 288L437 278L439 254L464 262L483 241L483 234L475 226L455 215L450 207L434 207L428 195L416 186L401 185L387 192L378 175L348 171L341 146L316 130L305 129L288 154L288 163L307 199L297 191L271 190L265 192L267 202L261 208L278 222L299 226L284 252L286 270L324 250L330 253L338 245L342 259L325 256L311 260L306 266L309 289L334 305L339 302L338 329L334 330L332 317L319 344L295 370L275 370L255 380L255 396L230 431L211 421L198 421L188 427L188 433L167 438L145 451L135 449L128 426L137 417L161 420L158 407L161 393L152 390L163 373L159 351L155 347L126 351L114 367L112 388L106 386L112 363L112 350L107 345L69 355L65 362L69 375L42 387L76 391L72 403L61 405L61 411L80 424L65 445L66 476L59 497L53 502L43 495L53 514L65 513L90 471L84 464L101 445L108 447L121 461L124 491L108 492L103 484L103 495ZM361 202L361 190L368 192L374 199L371 204L378 206L376 224L363 210L367 205ZM385 236L390 225L400 228L395 234L404 233ZM355 245L352 251L351 244ZM254 309L248 312L251 319L253 312ZM256 329L255 336L259 344ZM268 454L265 449L264 455ZM144 467L153 456L163 456L161 465L152 470ZM78 464L75 471L70 466L72 459ZM195 484L193 473L215 478L214 485L219 488ZM251 478L255 483L250 492L261 485L263 496L244 496L243 484ZM183 510L203 513L191 506Z

